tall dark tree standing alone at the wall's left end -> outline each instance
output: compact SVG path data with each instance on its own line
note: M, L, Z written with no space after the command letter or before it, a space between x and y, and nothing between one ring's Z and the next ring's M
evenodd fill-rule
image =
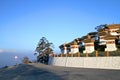
M35 49L37 55L37 62L47 63L49 54L53 52L53 43L49 42L45 37L42 37Z

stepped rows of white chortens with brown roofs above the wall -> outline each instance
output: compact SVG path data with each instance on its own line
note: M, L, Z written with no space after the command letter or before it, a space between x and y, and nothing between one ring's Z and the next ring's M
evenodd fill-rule
M63 54L80 52L92 53L95 50L116 51L120 39L120 24L100 25L97 32L90 32L86 36L76 38L69 43L59 46Z

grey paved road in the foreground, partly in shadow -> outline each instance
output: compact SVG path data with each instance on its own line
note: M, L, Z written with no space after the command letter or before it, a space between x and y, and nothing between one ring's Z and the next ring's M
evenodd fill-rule
M0 69L0 80L120 80L120 70L22 64L11 68Z

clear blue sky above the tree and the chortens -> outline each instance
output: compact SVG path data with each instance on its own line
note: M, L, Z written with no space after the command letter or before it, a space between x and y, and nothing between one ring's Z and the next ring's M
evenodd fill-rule
M120 23L120 0L0 0L0 49L34 51L46 37L59 45Z

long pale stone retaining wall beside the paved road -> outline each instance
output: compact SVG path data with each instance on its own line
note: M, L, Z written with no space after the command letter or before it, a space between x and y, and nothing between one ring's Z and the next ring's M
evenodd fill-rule
M51 57L49 59L49 65L78 68L120 69L120 57Z

